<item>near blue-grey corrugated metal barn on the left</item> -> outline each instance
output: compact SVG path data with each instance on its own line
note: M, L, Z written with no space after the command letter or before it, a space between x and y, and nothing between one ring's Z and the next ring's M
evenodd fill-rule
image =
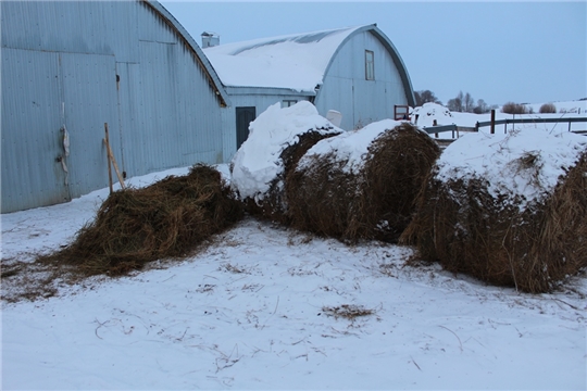
M222 130L227 93L157 1L0 7L2 213L107 187L104 123L126 177L234 153L234 133Z

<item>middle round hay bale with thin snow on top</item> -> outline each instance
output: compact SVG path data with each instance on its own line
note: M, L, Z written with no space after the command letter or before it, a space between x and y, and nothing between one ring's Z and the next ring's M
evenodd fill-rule
M395 241L439 154L426 133L391 119L322 140L287 177L291 226L350 242Z

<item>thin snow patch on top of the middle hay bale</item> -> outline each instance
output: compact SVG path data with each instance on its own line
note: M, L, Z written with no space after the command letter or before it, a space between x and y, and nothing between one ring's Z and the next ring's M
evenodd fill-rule
M401 125L400 121L383 119L371 123L362 129L347 131L342 135L321 140L300 159L296 169L307 169L313 164L316 155L336 154L337 161L347 162L342 166L342 172L357 174L365 163L364 157L373 140L384 131L394 129L399 125Z

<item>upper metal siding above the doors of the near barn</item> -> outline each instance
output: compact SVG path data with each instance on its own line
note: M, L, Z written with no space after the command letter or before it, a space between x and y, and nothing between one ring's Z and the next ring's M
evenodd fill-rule
M134 1L2 1L2 47L138 60Z

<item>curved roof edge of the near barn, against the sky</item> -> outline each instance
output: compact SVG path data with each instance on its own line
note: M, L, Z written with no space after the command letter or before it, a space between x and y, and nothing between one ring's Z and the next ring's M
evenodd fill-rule
M183 40L186 48L192 52L196 61L198 61L198 63L204 70L205 75L208 76L208 80L210 83L210 87L216 93L221 102L221 105L222 106L229 105L230 100L228 98L228 94L222 87L222 81L216 75L216 72L210 64L210 61L208 60L205 54L202 52L202 49L200 49L198 43L196 43L193 38L184 28L184 26L182 26L182 24L159 1L154 1L154 0L141 0L141 1L145 4L149 5L172 29L176 31L177 36Z

